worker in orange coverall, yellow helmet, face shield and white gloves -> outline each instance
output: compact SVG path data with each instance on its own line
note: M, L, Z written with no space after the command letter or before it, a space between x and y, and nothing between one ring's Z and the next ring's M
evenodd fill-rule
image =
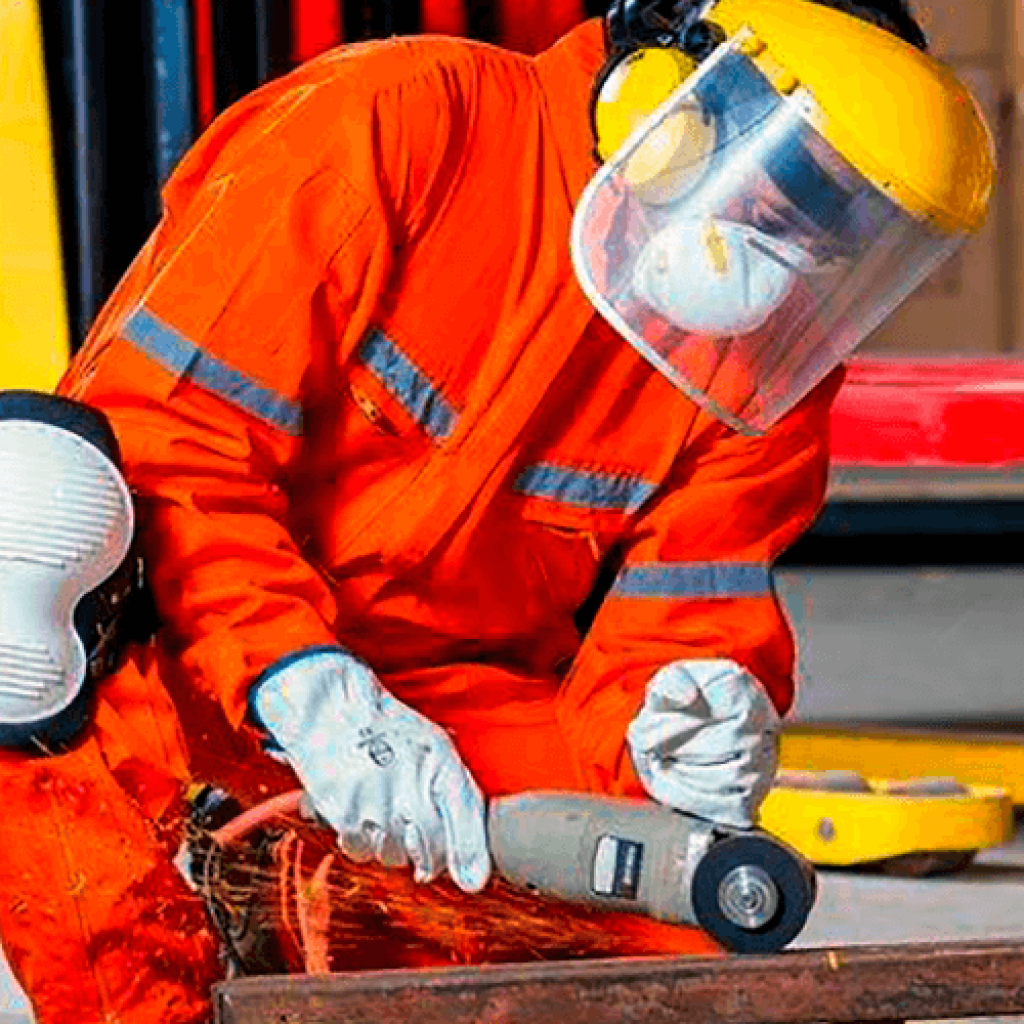
M843 360L990 187L924 45L900 0L615 0L536 58L332 51L214 123L59 387L117 447L56 417L74 451L22 463L82 468L69 530L94 479L116 552L120 464L160 623L73 725L6 711L40 1024L207 1019L191 779L297 778L349 856L467 893L488 797L756 820Z

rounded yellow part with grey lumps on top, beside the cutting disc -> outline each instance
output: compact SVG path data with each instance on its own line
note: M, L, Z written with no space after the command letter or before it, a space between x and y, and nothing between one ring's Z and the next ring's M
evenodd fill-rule
M1014 830L1005 790L969 786L956 795L894 795L891 780L866 779L867 793L776 786L761 808L761 827L815 864L836 867L908 854L983 850Z

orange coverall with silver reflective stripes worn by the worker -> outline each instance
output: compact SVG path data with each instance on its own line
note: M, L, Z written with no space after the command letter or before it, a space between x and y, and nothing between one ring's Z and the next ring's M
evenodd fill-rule
M624 734L679 658L790 705L770 567L822 500L838 375L739 436L590 306L568 238L603 58L598 20L536 58L333 51L169 183L60 388L117 431L163 625L72 751L0 753L0 934L42 1024L208 1014L181 792L295 785L247 715L293 651L365 658L490 796L641 796Z

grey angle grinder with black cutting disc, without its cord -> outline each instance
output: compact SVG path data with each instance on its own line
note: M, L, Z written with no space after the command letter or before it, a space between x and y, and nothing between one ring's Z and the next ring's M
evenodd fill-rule
M647 801L525 793L490 802L495 866L512 885L698 925L733 952L774 952L807 922L817 883L794 849Z

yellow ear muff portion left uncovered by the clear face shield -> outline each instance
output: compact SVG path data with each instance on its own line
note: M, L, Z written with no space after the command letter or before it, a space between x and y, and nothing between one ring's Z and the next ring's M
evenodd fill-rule
M598 80L594 99L601 160L607 160L694 68L696 63L682 50L655 46L633 50L610 65Z

